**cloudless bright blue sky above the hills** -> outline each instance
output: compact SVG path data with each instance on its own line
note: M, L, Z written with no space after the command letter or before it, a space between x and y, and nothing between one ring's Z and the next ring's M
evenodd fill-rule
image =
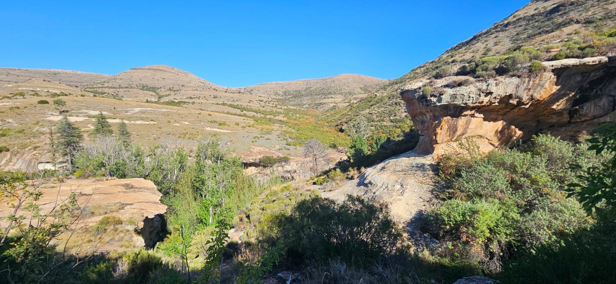
M4 1L0 66L116 74L165 64L214 84L400 77L529 0Z

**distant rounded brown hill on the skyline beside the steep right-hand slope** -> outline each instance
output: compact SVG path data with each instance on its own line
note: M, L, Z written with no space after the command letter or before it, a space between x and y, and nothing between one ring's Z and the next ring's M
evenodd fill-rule
M298 108L328 109L346 106L367 97L387 80L358 74L319 79L270 82L244 88L259 97L284 101Z

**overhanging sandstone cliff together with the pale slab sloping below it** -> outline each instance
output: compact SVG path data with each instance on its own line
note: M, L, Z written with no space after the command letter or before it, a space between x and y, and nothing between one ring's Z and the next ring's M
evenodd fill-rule
M468 138L490 151L543 132L575 138L612 119L615 57L543 65L544 71L522 77L449 76L408 84L400 94L421 135L415 150L367 168L359 178L323 195L382 200L395 219L411 221L434 202L434 156L450 151L458 141ZM432 87L428 96L422 92L425 85Z

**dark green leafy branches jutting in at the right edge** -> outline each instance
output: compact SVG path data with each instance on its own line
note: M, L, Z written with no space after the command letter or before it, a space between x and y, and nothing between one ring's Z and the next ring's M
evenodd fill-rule
M599 125L596 136L586 141L590 143L589 151L597 156L604 154L609 159L586 168L573 164L573 168L582 173L577 176L579 183L568 184L567 196L577 197L589 215L595 212L616 219L616 122Z

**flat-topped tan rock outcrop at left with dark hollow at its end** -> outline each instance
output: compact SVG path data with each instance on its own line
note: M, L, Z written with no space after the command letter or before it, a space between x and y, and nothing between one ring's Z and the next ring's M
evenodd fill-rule
M99 251L124 251L153 247L164 237L166 225L161 216L167 207L160 202L162 194L152 181L142 178L68 179L45 183L40 189L43 191L39 200L42 213L57 207L72 192L78 196L80 217L71 226L70 235L60 235L56 240L57 243L68 241L69 250L91 247ZM10 213L13 213L12 207L0 207L0 226L6 227L6 216ZM20 213L30 217L25 211L18 211L17 215ZM115 229L104 235L93 232L101 219L110 216L118 221L104 229Z

